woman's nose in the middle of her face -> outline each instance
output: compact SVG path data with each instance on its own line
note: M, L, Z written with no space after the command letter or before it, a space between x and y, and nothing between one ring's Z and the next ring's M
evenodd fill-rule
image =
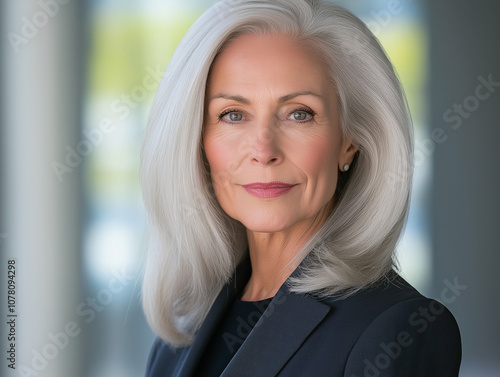
M278 165L283 161L277 131L271 123L258 127L250 148L250 159L261 165Z

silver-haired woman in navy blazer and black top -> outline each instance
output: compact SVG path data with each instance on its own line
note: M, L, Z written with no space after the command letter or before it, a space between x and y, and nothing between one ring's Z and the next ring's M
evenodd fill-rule
M147 376L457 376L450 312L394 271L412 136L360 20L223 1L179 45L143 146Z

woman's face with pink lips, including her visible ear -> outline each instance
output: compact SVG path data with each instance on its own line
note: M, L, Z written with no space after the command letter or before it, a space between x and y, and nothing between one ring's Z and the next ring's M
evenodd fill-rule
M285 35L242 35L211 67L204 148L223 210L255 232L322 223L343 139L336 91L320 56Z

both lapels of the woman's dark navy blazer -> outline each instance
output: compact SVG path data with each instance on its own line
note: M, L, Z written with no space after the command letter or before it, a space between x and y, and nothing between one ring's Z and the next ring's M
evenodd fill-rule
M294 271L298 272L300 266ZM194 342L189 347L179 377L192 377L205 347L220 318L233 303L250 278L248 253L239 264L231 281L226 284L210 309ZM290 292L285 282L262 314L238 352L233 356L221 377L276 376L300 348L304 340L319 325L330 306L311 296Z

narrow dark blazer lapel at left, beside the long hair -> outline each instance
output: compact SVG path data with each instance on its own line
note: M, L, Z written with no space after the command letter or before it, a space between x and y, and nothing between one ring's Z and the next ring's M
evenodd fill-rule
M243 261L238 265L231 281L224 285L215 299L193 343L186 349L185 354L181 357L183 360L179 363L177 373L175 374L176 376L194 376L198 363L203 356L203 352L212 338L214 331L217 329L220 319L226 313L228 306L230 306L236 298L237 293L243 290L246 282L250 278L250 274L251 264L250 257L247 253Z

